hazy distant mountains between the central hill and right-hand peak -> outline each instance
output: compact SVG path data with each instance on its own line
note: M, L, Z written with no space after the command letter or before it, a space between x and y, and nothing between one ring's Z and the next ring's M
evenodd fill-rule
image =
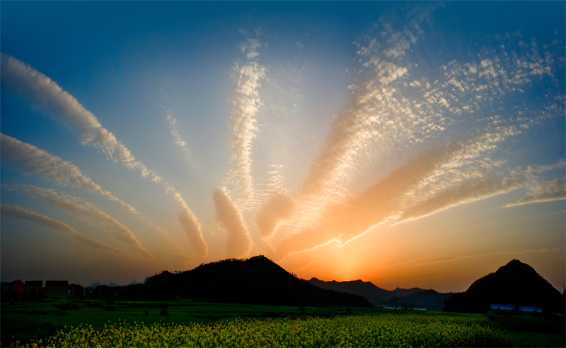
M396 306L401 308L429 308L441 309L444 307L444 300L452 296L452 293L439 293L434 290L426 290L418 287L412 289L396 288L393 291L376 287L371 282L362 280L352 280L349 282L324 282L317 278L309 280L311 284L323 289L335 290L338 292L349 292L364 296L374 306Z

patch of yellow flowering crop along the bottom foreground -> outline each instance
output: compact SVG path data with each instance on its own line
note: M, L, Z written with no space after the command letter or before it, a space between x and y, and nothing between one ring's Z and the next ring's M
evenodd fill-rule
M507 333L484 318L402 315L234 320L212 324L127 323L59 331L28 347L497 347ZM18 342L16 342L18 347Z

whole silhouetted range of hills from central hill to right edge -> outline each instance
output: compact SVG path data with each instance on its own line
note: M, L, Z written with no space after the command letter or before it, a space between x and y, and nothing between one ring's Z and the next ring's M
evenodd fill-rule
M3 282L4 283L4 282ZM100 282L90 285L100 286ZM560 293L526 263L511 260L496 272L473 282L466 292L376 287L371 282L301 280L265 256L202 264L193 270L163 271L127 286L110 283L117 298L289 306L395 306L485 313L490 304L541 307L543 313L565 313L566 290Z

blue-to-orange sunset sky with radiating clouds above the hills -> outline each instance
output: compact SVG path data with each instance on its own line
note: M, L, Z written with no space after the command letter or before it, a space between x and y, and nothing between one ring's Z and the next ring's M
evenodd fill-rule
M562 291L565 7L1 1L1 280Z

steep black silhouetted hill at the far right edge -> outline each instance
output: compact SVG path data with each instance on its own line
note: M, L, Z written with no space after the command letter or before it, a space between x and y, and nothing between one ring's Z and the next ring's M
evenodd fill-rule
M543 313L565 311L564 296L530 265L511 260L445 301L446 311L485 313L490 304L537 306Z

